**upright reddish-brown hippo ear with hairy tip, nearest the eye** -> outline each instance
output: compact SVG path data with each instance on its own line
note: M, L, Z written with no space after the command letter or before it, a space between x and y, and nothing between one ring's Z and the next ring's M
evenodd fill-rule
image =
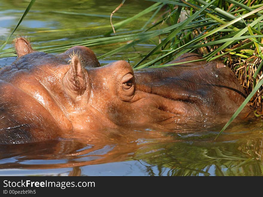
M68 95L73 99L82 95L87 87L85 69L82 68L77 55L71 58L70 68L65 74L63 85Z

